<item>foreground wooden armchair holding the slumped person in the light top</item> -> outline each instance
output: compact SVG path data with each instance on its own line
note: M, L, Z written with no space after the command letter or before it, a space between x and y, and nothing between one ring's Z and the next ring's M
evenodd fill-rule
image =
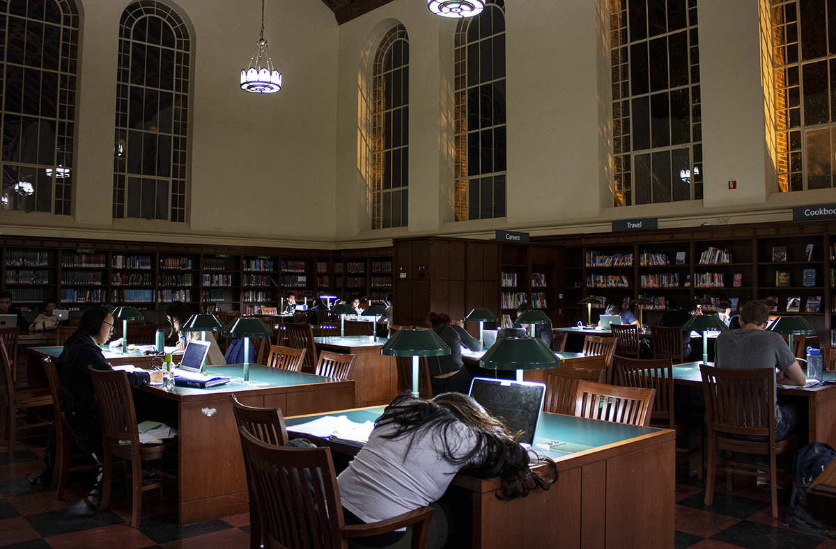
M412 548L426 547L432 507L424 506L386 521L345 526L329 448L274 446L258 441L242 427L238 433L252 477L265 549L347 547L349 538L410 525Z

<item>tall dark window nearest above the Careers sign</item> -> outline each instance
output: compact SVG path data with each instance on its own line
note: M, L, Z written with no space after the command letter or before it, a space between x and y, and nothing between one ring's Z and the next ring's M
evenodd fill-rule
M456 29L456 221L505 217L505 3Z

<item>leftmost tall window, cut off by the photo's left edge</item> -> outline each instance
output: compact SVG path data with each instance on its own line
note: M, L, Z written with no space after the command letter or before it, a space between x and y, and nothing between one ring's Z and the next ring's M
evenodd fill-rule
M79 13L71 0L0 2L3 209L69 215Z

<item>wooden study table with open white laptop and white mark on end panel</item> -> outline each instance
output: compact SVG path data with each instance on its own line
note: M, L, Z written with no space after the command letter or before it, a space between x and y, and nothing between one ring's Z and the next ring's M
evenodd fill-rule
M281 408L286 415L322 413L354 406L354 381L250 365L210 366L232 382L209 389L135 387L138 416L176 427L178 440L178 520L208 521L249 511L247 477L229 394L251 406Z

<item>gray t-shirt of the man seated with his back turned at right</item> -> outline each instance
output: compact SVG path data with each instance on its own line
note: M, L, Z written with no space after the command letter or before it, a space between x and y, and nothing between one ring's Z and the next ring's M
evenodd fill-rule
M766 330L729 330L717 336L714 346L716 365L720 368L787 370L795 362L793 352L781 335ZM775 402L775 421L781 421L781 409Z

